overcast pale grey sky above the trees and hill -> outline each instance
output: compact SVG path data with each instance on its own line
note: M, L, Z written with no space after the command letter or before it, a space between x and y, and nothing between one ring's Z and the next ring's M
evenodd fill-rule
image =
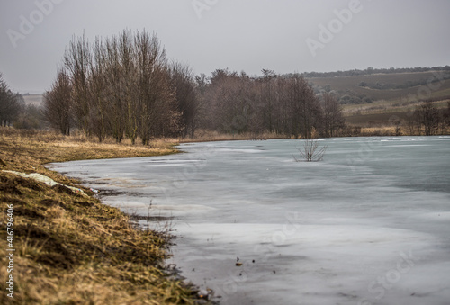
M450 64L448 0L0 0L0 72L49 89L72 35L155 31L195 73Z

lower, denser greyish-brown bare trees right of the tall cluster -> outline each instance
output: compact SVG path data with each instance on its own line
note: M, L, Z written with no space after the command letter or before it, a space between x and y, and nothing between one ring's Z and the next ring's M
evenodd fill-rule
M250 77L219 69L209 80L197 77L197 85L206 129L247 132L255 138L265 132L311 138L314 130L332 137L344 127L338 101L330 94L314 94L300 75L263 70L263 76Z

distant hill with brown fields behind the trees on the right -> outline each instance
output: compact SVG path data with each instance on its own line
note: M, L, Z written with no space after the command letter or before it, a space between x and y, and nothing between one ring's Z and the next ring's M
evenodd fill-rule
M307 79L316 93L329 92L338 98L347 122L376 126L389 123L393 116L406 119L419 103L428 102L434 103L437 108L446 107L446 102L450 101L450 69L447 67L437 71L390 71ZM340 72L340 75L345 73Z

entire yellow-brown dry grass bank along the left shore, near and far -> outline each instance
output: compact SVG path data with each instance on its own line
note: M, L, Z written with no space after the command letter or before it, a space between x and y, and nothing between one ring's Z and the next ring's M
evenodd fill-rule
M39 172L64 184L73 182L42 164L174 151L167 143L130 147L46 133L28 136L0 131L0 169ZM0 171L0 204L0 247L4 250L8 248L7 205L14 205L14 303L194 303L193 291L169 279L162 267L166 235L135 229L127 215L94 197ZM0 265L0 303L7 304L12 300L4 287L8 276L5 256L0 257Z

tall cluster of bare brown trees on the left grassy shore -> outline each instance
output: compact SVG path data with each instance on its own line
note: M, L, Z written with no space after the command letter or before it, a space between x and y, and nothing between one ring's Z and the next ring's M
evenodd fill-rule
M93 44L74 37L44 95L44 113L63 134L76 127L100 141L127 137L148 144L193 133L195 94L192 71L169 64L155 34L122 31Z

